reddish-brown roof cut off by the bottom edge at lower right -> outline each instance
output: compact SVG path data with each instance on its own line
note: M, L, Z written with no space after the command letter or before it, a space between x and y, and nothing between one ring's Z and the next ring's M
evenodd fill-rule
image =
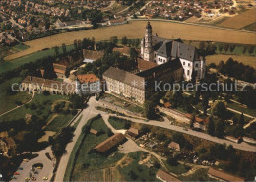
M244 182L243 178L234 176L234 175L226 173L224 171L214 169L213 167L209 168L208 175L212 178L215 178L215 179L221 180L221 181Z

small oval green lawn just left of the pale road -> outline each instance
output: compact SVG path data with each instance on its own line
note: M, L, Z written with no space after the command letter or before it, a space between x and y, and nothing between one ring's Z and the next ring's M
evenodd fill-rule
M49 125L46 126L45 130L58 132L61 128L67 126L73 117L74 115L72 114L58 115L50 122Z

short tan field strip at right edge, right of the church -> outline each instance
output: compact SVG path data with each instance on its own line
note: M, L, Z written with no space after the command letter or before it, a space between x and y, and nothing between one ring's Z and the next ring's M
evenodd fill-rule
M250 65L254 69L256 69L256 57L253 57L253 56L237 56L237 55L221 55L221 54L206 56L206 64L207 65L209 65L210 63L219 64L221 61L226 62L230 57L238 62L242 62L245 65Z

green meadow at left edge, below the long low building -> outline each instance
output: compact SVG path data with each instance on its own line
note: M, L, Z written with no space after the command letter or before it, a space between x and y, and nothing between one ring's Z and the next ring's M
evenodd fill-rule
M13 83L19 83L21 80L21 78L15 77L0 84L0 114L16 107L15 102L26 103L32 98L32 94L28 94L27 91L18 91L12 95L7 93L8 88L11 88Z

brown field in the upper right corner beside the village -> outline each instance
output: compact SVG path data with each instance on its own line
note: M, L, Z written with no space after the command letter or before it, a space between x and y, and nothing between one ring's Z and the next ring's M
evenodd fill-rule
M224 22L219 24L219 26L225 27L225 28L242 29L243 27L248 26L255 22L256 22L256 8L253 8L244 13L241 13L240 15L237 15L225 20Z

